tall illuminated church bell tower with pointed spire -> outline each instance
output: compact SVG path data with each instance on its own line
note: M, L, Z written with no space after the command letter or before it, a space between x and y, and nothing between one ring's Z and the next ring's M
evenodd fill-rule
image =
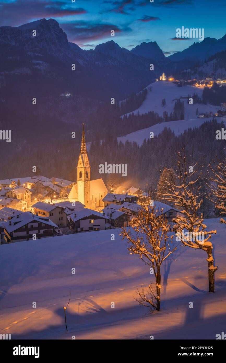
M86 151L84 123L82 124L82 144L77 166L78 201L90 208L90 163Z

